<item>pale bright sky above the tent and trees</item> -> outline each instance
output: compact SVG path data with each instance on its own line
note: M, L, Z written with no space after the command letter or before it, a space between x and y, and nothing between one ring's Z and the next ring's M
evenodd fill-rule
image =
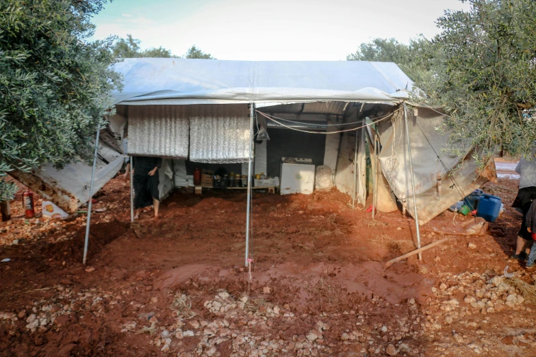
M184 55L195 44L218 59L338 61L362 42L409 42L439 33L459 0L114 0L96 16L90 40L110 35Z

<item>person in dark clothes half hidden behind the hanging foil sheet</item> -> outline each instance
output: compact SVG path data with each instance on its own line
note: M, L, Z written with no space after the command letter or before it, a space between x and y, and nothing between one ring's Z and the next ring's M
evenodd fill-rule
M162 159L159 157L132 157L132 172L134 186L134 209L153 206L155 209L155 219L158 218L160 206L158 194L158 169L162 166ZM135 219L139 216L136 213Z

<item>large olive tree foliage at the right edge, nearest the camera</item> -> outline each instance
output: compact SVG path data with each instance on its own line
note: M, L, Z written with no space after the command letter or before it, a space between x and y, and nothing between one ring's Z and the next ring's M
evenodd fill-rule
M536 140L536 2L470 0L469 12L446 11L429 49L433 73L416 85L426 105L450 114L448 150L484 149L528 156ZM422 100L422 98L419 98Z

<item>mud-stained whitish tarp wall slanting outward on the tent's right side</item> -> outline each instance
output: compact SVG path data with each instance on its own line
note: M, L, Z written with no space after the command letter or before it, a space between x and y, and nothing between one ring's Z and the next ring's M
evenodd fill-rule
M461 170L452 178L457 185L451 188L454 181L448 177L442 163L451 171L458 166L461 158L442 153L448 136L441 135L435 128L443 124L444 116L432 109L416 110L418 115L414 116L413 110L408 109L408 129L419 223L426 224L453 203L462 200L474 189L493 179L496 174L494 165L489 166L486 172L479 172L478 166L468 155ZM391 120L379 122L378 130L382 146L379 155L381 170L396 197L399 200L406 200L407 211L413 215L413 189L403 111L400 110L396 114L394 125ZM437 159L436 153L442 162ZM437 173L441 174L443 183L440 197L437 196Z

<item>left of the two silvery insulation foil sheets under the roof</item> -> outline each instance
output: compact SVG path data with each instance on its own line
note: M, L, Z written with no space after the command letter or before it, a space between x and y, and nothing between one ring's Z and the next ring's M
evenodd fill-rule
M187 159L189 111L185 105L129 106L129 155Z

